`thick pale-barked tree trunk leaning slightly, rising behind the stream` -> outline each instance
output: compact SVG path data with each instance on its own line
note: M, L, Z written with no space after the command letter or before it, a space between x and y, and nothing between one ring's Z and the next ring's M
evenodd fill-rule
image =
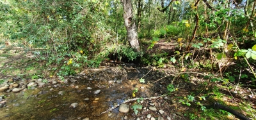
M121 0L121 3L123 3L124 8L124 24L127 30L127 40L134 50L140 51L136 20L132 16L132 2L131 0Z

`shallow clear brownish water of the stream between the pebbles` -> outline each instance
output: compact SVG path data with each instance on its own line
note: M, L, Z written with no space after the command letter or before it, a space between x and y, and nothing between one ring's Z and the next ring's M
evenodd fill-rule
M138 117L132 111L129 114L119 113L118 108L101 116L99 114L131 98L132 90L134 90L135 86L138 87L138 84L140 84L138 78L143 74L138 70L132 69L130 71L132 77L126 80L122 79L125 74L117 73L114 75L113 71L112 74L106 71L87 71L86 74L90 74L90 76L86 76L84 79L68 78L67 83L59 82L55 86L48 83L47 86L36 88L35 90L2 93L6 95L4 100L8 102L0 109L0 119L55 120L84 119L86 117L89 119L123 119L124 116L129 119L136 119ZM122 82L109 83L109 80L113 79L115 81L121 80ZM91 87L92 90L87 90L87 87ZM100 93L95 95L93 93L95 90L100 90ZM59 91L63 91L63 95L59 95ZM141 90L141 93L138 92L136 94L145 97L147 91L147 89ZM89 100L86 101L84 98L89 98ZM95 98L99 98L99 100L95 100ZM79 106L72 108L70 107L71 103L79 103Z

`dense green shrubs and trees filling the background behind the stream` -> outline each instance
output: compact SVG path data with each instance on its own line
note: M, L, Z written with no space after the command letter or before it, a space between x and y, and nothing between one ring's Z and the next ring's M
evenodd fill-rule
M174 65L181 72L207 71L211 82L229 84L243 76L255 87L255 1L136 0L132 5L130 19L136 23L140 52L130 47L124 6L115 0L0 1L0 47L10 42L33 50L50 68L49 76L99 67L116 54L144 65ZM157 48L164 42L175 44L173 51ZM239 69L226 72L230 62ZM179 76L189 81L188 74ZM168 90L174 89L170 84ZM189 104L192 97L182 102Z

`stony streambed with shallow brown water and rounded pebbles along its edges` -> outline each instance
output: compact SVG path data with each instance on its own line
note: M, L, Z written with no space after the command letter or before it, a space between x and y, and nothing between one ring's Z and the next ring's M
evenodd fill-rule
M0 119L186 119L182 111L188 107L177 110L172 97L159 97L172 79L151 84L171 72L127 64L63 79L2 79Z

